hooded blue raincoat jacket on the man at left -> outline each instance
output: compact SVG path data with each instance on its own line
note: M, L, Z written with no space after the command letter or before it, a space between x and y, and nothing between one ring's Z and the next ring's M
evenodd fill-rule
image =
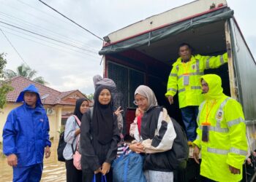
M24 102L25 92L37 93L35 108ZM39 97L37 88L31 84L26 87L16 102L23 101L23 105L10 111L3 130L4 154L16 154L17 167L28 167L43 161L45 146L50 146L49 122L45 109Z

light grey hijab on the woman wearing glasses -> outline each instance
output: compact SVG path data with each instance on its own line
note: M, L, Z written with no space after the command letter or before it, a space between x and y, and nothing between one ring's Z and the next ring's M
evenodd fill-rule
M148 108L153 107L153 106L158 106L157 104L157 98L154 95L153 90L151 90L151 88L149 88L146 85L140 85L136 90L135 90L135 96L137 94L143 95L144 97L148 98Z

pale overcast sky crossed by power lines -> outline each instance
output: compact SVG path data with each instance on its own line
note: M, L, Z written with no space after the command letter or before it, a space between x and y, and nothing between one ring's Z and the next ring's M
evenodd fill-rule
M165 12L191 1L171 0L43 0L99 37L151 15ZM214 0L213 0L214 1ZM51 41L10 25L0 23L23 60L42 76L48 86L59 91L94 92L92 76L102 75L102 41L70 23L37 0L0 0L0 21L57 39ZM238 25L256 58L256 1L229 0ZM7 67L15 70L23 60L0 31L0 53L7 53ZM76 48L79 47L79 48Z

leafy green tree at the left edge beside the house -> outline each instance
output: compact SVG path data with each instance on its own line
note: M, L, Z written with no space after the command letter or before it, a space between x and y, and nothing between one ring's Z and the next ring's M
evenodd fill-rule
M10 86L10 82L5 80L4 68L7 60L4 59L4 53L0 54L0 108L4 108L7 103L7 93L12 91L13 88Z

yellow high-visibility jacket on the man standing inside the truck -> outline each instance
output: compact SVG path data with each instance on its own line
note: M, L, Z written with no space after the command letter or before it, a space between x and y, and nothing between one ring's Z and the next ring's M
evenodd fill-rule
M187 63L182 63L178 58L170 71L165 96L174 96L178 92L179 108L199 106L203 101L200 76L203 76L205 69L218 68L224 63L227 63L227 53L218 56L195 55ZM189 75L189 84L184 86L185 74Z

